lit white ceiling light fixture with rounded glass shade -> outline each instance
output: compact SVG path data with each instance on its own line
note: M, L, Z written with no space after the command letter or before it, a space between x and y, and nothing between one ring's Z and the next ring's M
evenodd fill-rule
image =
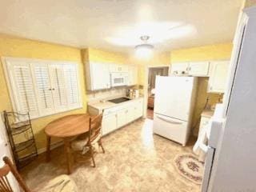
M140 39L142 40L142 44L135 46L136 56L138 58L150 58L153 54L154 46L147 43L149 40L149 36L142 36Z

